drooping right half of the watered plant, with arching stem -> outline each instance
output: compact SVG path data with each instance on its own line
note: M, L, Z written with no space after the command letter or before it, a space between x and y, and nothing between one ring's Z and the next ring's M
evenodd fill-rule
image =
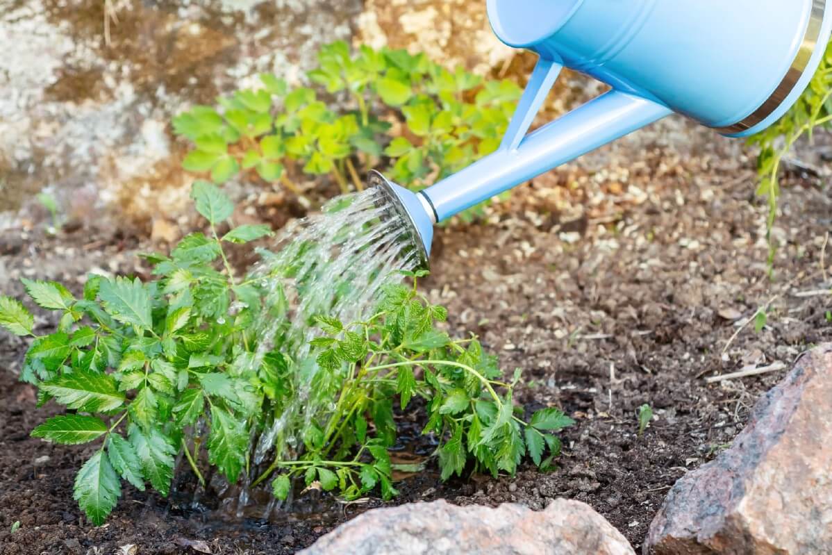
M414 398L426 407L423 434L438 439L443 479L466 468L513 474L525 455L540 468L552 468L560 453L553 434L574 421L554 408L537 411L528 423L522 419L496 357L484 353L476 338L451 339L440 332L436 324L447 312L418 294L415 281L423 273L410 275L414 285L389 286L367 321L317 319L324 334L312 346L328 372L313 389L331 387L335 379L335 408L306 436L299 458L275 459L255 483L282 471L272 482L278 498L288 495L289 478L304 477L308 485L315 475L324 490L338 488L346 498L377 484L384 498L393 496L386 449L395 441L396 397L401 409Z

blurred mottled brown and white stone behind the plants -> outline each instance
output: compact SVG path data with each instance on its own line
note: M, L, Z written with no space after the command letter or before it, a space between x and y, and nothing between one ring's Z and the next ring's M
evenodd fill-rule
M2 0L0 12L0 230L55 223L54 209L66 230L171 240L193 180L171 118L255 86L260 72L307 85L319 47L335 40L521 86L534 62L498 42L479 0ZM599 91L567 75L541 117ZM691 129L680 120L646 135L696 146ZM233 184L238 196L252 185Z

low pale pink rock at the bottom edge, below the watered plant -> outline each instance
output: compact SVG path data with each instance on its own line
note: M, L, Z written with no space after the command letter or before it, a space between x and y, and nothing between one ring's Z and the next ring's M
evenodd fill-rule
M587 504L556 499L544 511L443 500L377 508L319 538L304 555L626 555L630 544Z

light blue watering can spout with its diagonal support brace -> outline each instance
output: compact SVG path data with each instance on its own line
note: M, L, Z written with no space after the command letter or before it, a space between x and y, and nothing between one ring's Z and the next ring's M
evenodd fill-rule
M613 89L526 134L561 68L540 58L498 150L419 191L434 222L672 113L663 104Z

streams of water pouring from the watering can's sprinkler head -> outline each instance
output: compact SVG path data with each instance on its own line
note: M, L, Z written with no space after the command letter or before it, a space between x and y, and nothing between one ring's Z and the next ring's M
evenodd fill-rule
M403 279L398 270L419 264L409 232L386 193L372 188L329 201L321 213L288 225L274 251L260 252L263 260L249 277L264 295L253 324L258 347L250 364L260 368L279 349L290 367L286 387L294 394L255 440L255 464L272 452L294 457L302 430L334 409L331 398L312 387L321 370L309 342L321 332L310 324L315 315L344 323L367 319L384 285ZM238 508L245 499L240 502Z

